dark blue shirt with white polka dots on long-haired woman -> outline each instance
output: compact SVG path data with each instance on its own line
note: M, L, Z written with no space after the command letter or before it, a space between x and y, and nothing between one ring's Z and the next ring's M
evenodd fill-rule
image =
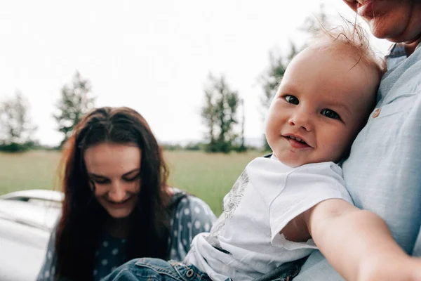
M208 232L216 218L209 206L199 198L185 195L177 188L173 188L173 190L173 202L182 199L178 200L171 219L168 259L182 261L190 249L193 237L198 233ZM100 280L127 260L126 242L126 239L112 237L109 233L102 235L100 247L95 251L93 280ZM48 242L46 258L39 272L38 281L53 281L55 274L54 244L55 229Z

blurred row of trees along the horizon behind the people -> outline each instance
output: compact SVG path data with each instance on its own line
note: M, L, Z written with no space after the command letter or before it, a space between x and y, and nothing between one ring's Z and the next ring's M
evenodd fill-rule
M317 19L305 18L300 30L311 34L318 32L323 25L326 25L326 14L321 6ZM287 55L277 51L269 51L269 67L258 78L262 89L259 105L262 123L286 67L299 50L293 42L290 42ZM60 98L55 103L55 112L52 115L57 123L56 129L63 135L57 148L61 148L71 136L74 126L81 117L95 107L95 96L91 89L91 82L81 77L77 71L72 81L62 86ZM244 136L246 116L244 100L240 98L239 92L232 89L224 75L218 77L210 73L203 93L203 106L200 112L206 127L203 140L199 143L189 143L184 147L167 145L167 148L224 153L232 150L246 151ZM36 129L29 114L29 104L20 91L16 91L13 97L0 101L0 151L20 152L39 148L38 141L33 138ZM270 149L264 137L261 148Z

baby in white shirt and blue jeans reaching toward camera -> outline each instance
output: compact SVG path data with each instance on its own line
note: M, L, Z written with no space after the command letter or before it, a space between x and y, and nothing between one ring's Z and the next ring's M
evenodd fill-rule
M133 260L105 280L253 280L314 249L347 280L420 276L420 261L385 223L354 207L336 164L366 124L382 73L359 27L316 37L288 65L269 108L272 157L246 166L184 263Z

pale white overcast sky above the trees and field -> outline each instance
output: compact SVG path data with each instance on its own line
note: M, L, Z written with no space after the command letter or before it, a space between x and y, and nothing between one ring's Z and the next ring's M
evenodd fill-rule
M245 100L246 137L259 137L268 53L302 44L297 28L321 3L329 15L352 16L342 0L1 1L0 100L22 91L35 138L58 144L54 104L79 70L97 106L133 107L159 141L199 140L213 72ZM388 45L375 41L382 52Z

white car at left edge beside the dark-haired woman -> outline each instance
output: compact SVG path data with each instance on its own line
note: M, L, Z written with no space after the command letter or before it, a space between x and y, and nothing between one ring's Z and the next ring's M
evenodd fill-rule
M62 192L22 190L0 196L0 280L30 281L44 261Z

